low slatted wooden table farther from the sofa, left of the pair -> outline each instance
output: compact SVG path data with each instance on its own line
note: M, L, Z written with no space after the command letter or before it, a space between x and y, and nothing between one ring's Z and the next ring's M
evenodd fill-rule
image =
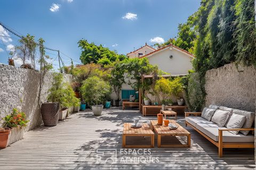
M126 137L151 137L151 145L126 145ZM131 123L124 123L123 130L123 147L124 148L154 148L154 132L149 128L147 123L142 123L142 127L131 128Z

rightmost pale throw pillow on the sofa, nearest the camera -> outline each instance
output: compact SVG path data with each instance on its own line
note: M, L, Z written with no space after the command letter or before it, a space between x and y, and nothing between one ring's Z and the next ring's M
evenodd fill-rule
M227 128L242 128L244 122L246 121L246 116L232 114L229 122L227 123ZM239 131L229 131L230 133L237 134Z

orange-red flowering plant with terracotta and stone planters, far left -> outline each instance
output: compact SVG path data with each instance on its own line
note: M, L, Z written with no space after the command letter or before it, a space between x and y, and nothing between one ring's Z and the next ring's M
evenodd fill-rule
M17 108L14 108L11 114L6 115L3 121L4 128L0 129L0 148L5 148L11 143L21 140L25 126L29 122L26 120L25 113L19 112Z

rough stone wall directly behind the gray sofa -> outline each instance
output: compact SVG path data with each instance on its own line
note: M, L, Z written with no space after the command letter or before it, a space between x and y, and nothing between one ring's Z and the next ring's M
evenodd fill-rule
M205 106L217 104L255 112L256 69L235 63L206 72Z

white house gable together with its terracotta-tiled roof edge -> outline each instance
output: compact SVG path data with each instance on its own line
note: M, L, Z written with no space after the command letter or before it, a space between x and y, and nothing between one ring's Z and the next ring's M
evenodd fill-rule
M134 52L140 51L138 49ZM131 53L128 55L131 55ZM135 57L137 56L135 55ZM147 57L150 64L158 65L159 69L172 75L188 74L188 71L193 69L191 60L195 58L193 54L172 44L138 57Z

